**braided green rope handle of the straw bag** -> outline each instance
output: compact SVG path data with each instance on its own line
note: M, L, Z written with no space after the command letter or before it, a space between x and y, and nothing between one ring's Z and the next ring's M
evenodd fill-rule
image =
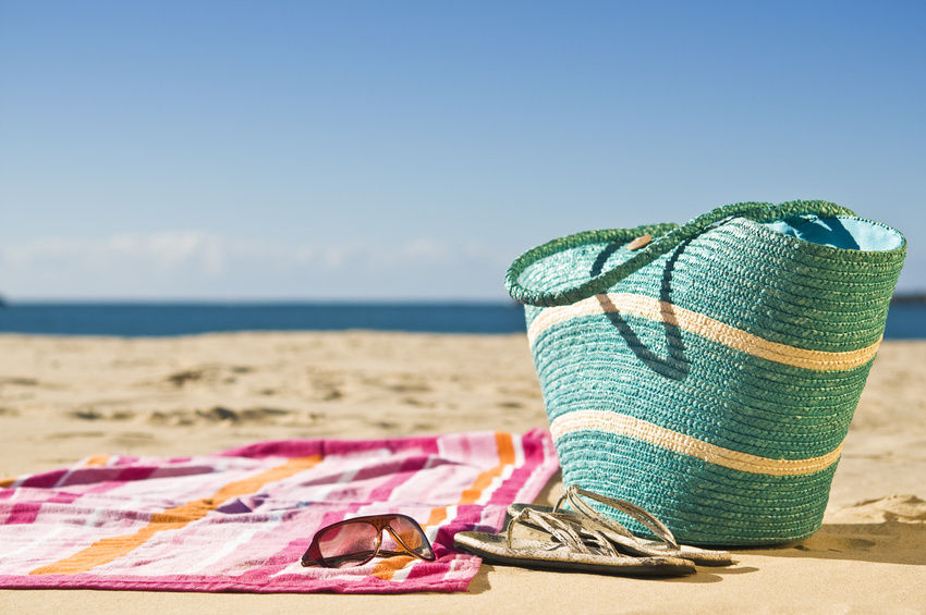
M682 242L699 235L711 225L723 222L728 218L747 218L754 222L771 222L795 216L832 218L837 216L854 217L855 213L844 207L825 200L794 200L779 205L772 205L770 202L735 202L718 207L681 226L673 223L666 223L637 226L635 229L586 231L584 233L560 237L527 250L511 263L508 273L504 275L504 285L508 288L508 293L522 304L538 307L574 304L575 302L605 292ZM657 238L620 265L578 285L561 291L545 292L522 286L521 282L519 282L519 278L521 278L525 269L538 260L557 253L593 243L626 243L645 234L650 234Z

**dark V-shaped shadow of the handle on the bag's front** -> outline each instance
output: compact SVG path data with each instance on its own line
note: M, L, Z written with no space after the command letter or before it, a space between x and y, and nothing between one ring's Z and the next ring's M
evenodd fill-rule
M662 328L666 331L666 346L668 356L660 357L653 350L646 347L639 337L634 332L633 328L621 316L619 308L608 298L607 295L596 295L596 299L601 305L605 316L611 321L618 332L623 337L628 347L633 350L636 357L649 369L656 373L669 378L671 380L684 380L689 371L691 371L691 361L685 356L685 343L682 340L682 333L678 325L674 307L672 305L672 272L675 269L675 262L689 245L691 239L683 242L675 248L675 251L666 262L662 270L662 280L659 288L660 316ZM621 247L622 244L611 244L606 246L592 265L589 274L594 278L601 273L605 263L608 259Z

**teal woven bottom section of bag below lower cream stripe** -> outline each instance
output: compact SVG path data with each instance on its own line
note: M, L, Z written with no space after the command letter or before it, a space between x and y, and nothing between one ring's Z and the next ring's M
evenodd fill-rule
M801 540L820 528L836 466L799 477L744 475L687 455L604 433L566 436L557 443L568 484L596 493L632 495L684 543L735 546ZM621 485L602 468L620 467ZM589 502L589 504L592 504ZM658 504L658 505L657 505ZM635 533L648 530L614 514Z

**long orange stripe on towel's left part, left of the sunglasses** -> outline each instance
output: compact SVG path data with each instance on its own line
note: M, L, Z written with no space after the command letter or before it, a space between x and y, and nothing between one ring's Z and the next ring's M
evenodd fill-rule
M303 470L317 465L321 457L314 455L312 457L296 457L288 460L281 466L270 468L259 475L230 482L221 488L211 497L203 497L193 500L186 504L181 504L173 508L168 508L162 513L151 515L151 520L147 526L132 534L114 536L105 538L93 543L90 546L78 551L70 557L59 559L53 564L36 568L31 575L76 575L86 573L109 564L124 555L127 555L135 549L145 544L153 536L165 530L180 529L193 521L202 519L209 512L218 508L223 502L232 497L240 497L254 493L265 484L283 480L293 475L297 475Z

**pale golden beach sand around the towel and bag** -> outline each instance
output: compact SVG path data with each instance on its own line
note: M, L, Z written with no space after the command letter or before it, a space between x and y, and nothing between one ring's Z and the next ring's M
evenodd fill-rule
M926 342L886 342L823 529L730 568L641 580L483 564L459 594L0 590L4 613L926 613ZM0 335L0 477L97 453L545 427L523 335ZM562 489L553 480L539 501Z

